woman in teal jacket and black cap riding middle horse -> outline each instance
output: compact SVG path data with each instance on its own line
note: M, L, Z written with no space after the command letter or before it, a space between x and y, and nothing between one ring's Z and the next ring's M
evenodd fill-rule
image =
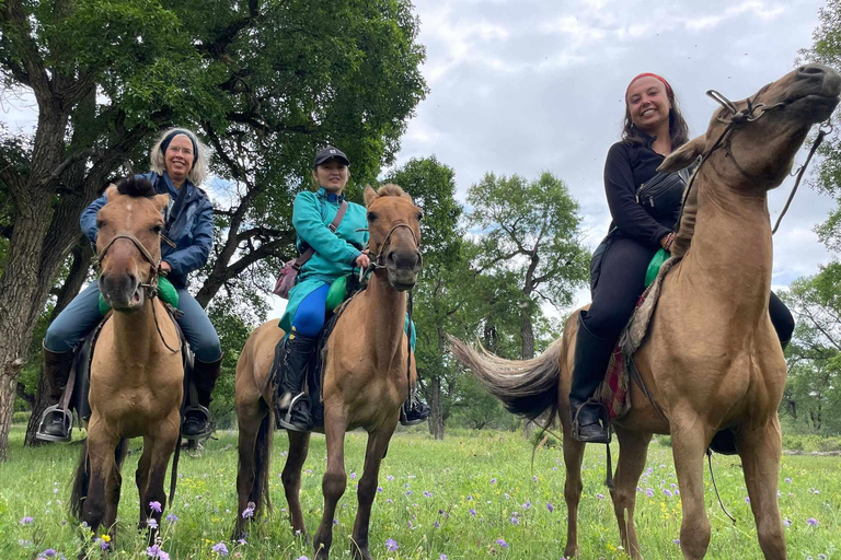
M368 219L365 207L348 202L345 215L335 233L329 224L344 201L344 190L350 177L347 156L337 148L327 147L315 155L312 179L315 192L299 192L292 207L292 225L298 234L297 248L303 253L312 247L312 257L301 267L298 282L289 291L289 303L280 318L280 328L289 334L283 363L279 409L285 415L297 395L303 392L307 365L312 358L324 327L330 285L353 273L354 268L368 268L371 259L368 245ZM413 424L429 417L429 407L419 401L407 402L401 422ZM287 430L309 431L312 424L308 399L298 398L292 405L290 422L279 423Z

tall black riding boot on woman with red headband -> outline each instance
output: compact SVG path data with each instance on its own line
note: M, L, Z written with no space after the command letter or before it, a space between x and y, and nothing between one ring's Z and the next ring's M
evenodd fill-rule
M608 443L608 431L600 422L601 405L587 402L604 380L613 341L596 337L587 330L584 317L578 315L578 335L575 341L575 369L569 404L573 413L573 438L579 442Z

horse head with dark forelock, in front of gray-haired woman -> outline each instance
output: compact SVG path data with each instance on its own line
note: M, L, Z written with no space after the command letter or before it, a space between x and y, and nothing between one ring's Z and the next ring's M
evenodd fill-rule
M158 195L147 179L128 177L105 192L108 201L96 214L96 253L102 272L100 292L115 311L143 306L145 287L161 261L163 209L169 195Z

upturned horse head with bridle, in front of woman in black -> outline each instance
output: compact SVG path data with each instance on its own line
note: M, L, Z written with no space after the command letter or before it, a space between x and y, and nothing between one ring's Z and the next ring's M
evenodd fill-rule
M736 103L707 92L723 107L706 133L672 152L659 171L681 170L702 155L714 183L765 192L785 179L809 128L829 118L839 93L841 75L822 65L802 66Z

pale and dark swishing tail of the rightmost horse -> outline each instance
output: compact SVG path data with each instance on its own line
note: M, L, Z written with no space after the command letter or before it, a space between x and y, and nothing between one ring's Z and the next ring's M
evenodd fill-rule
M454 337L450 337L450 343L456 359L473 372L510 412L534 420L550 410L549 418L554 419L557 412L563 339L552 342L537 358L521 361L494 355L482 345L476 351Z

